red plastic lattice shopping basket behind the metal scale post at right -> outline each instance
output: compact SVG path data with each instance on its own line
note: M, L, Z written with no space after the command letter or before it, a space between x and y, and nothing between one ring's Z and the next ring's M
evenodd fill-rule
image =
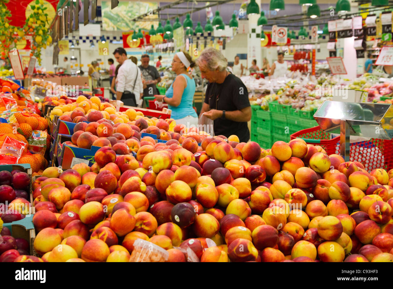
M291 140L302 138L307 144L320 145L328 155L340 154L340 137L331 138L321 127L311 127L291 134ZM371 138L369 141L351 144L349 160L364 165L366 171L393 168L393 141Z

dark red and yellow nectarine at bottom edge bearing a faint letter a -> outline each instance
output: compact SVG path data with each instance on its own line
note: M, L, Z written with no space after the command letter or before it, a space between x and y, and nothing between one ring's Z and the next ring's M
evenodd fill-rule
M232 262L255 261L258 257L258 250L250 240L239 238L228 246L228 257Z

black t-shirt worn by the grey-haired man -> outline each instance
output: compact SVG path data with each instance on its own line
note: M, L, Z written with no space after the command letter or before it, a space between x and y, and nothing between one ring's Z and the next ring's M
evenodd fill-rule
M228 74L223 83L208 84L205 103L210 109L225 111L241 110L250 106L246 86L239 77L233 74ZM250 140L250 131L246 121L217 118L214 121L214 134L222 134L226 137L236 134L240 142Z

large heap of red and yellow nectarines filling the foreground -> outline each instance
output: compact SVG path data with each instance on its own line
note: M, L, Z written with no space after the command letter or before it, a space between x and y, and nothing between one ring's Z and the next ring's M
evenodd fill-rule
M48 168L33 182L39 258L20 259L127 262L142 239L168 262L393 260L393 170L367 172L302 139L265 150L138 120L135 157L106 142L92 167ZM171 139L140 138L144 129Z

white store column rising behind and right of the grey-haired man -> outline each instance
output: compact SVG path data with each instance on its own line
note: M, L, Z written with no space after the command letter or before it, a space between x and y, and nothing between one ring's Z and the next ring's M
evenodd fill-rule
M259 9L261 9L261 0L255 0ZM252 66L252 60L257 60L257 66L262 66L262 53L261 53L261 27L257 26L257 15L247 15L248 17L248 35L247 35L247 67Z

